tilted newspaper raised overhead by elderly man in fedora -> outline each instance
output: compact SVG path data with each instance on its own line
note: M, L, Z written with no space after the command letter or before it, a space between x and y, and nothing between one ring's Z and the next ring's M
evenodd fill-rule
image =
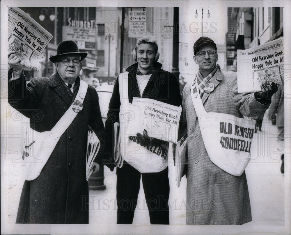
M23 66L39 71L38 57L51 39L52 35L24 11L9 7L8 50L15 51Z

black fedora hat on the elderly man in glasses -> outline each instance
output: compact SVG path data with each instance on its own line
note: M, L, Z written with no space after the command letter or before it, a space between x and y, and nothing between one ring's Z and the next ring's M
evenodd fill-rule
M56 62L58 58L64 57L64 55L70 54L78 54L81 56L81 60L85 59L88 55L87 53L80 52L78 45L76 42L69 40L69 41L62 41L58 44L57 54L54 56L49 57L51 62Z

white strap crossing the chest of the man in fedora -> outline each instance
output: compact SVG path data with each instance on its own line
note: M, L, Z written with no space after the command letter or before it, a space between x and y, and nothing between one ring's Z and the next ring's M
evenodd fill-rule
M60 120L58 120L57 124L53 127L53 129L50 131L51 134L54 136L58 135L61 137L61 135L68 129L74 118L77 116L79 112L75 112L73 110L74 108L74 103L76 101L79 101L81 105L83 104L83 101L85 99L86 93L88 89L88 83L84 82L83 80L80 80L80 86L78 93L76 95L76 98L74 102L72 102L71 106L69 109L64 113L64 115L61 117Z

